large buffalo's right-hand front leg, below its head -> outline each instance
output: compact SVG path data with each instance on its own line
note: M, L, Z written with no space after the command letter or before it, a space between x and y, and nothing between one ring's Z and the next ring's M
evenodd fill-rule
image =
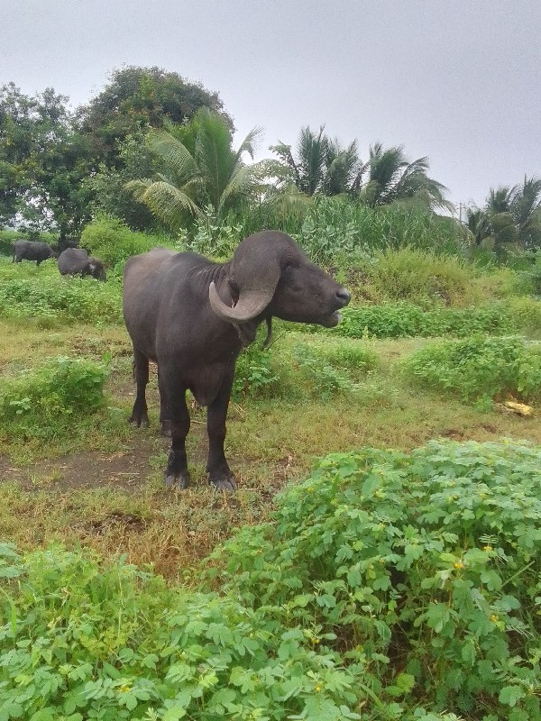
M214 485L215 488L225 488L225 490L236 489L234 475L225 460L224 452L225 418L227 416L233 378L234 368L227 374L213 402L208 404L206 413L206 430L208 433L208 460L206 461L206 471L208 473L208 482Z

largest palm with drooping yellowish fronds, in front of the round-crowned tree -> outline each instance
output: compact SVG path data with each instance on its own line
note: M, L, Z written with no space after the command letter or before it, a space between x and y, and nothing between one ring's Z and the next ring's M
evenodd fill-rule
M261 128L254 128L233 151L225 120L201 108L188 126L148 133L149 146L166 172L156 178L132 180L126 187L172 227L184 224L187 214L204 215L206 209L219 220L235 203L261 192L265 163L243 162L244 152L253 159L260 135Z

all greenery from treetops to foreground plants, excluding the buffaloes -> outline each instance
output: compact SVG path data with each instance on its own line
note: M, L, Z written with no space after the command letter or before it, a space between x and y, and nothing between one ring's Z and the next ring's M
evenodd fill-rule
M303 128L246 164L258 129L232 131L158 68L76 113L0 91L0 721L537 721L541 182L461 224L402 147ZM195 486L168 493L155 369L151 429L126 423L124 262L265 227L352 304L240 356L238 492L206 488L190 401ZM107 282L13 264L21 233Z

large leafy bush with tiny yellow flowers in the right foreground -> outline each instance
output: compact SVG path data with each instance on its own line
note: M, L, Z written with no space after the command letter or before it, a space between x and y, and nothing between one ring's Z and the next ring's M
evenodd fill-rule
M334 454L206 574L340 653L365 721L536 721L540 468L507 442Z

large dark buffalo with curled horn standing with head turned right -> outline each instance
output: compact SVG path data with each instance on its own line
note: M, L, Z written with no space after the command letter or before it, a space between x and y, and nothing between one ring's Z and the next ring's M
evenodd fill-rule
M130 422L147 425L145 388L149 360L158 363L160 421L170 425L166 485L186 488L189 473L185 440L189 389L208 406L208 480L234 489L225 460L225 417L234 366L257 327L271 318L331 328L350 295L311 263L286 233L262 231L245 238L233 260L215 263L197 253L165 248L136 255L124 266L124 319L133 342L137 396Z

